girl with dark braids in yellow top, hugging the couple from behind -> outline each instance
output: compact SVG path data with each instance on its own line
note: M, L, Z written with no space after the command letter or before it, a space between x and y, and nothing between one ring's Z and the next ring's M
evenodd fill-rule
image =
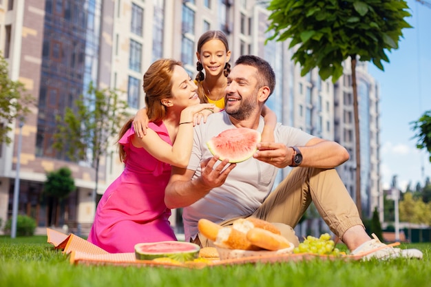
M224 109L224 89L227 87L227 76L231 72L231 64L229 64L231 50L229 50L226 35L219 30L204 32L198 40L196 56L198 57L196 83L201 103L213 103L219 108L215 111ZM211 114L209 111L202 112L204 120L209 114ZM262 116L265 120L262 142L273 142L277 116L266 106L262 110ZM200 118L201 116L199 120ZM138 136L146 134L147 123L145 108L140 109L133 123Z

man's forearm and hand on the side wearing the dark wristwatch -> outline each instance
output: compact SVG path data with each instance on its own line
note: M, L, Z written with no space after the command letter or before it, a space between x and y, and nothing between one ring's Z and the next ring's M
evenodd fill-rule
M282 143L261 142L257 145L258 151L253 156L258 160L284 168L292 165L293 149ZM349 159L348 151L337 142L312 138L305 146L297 147L302 153L300 167L318 167L331 169Z

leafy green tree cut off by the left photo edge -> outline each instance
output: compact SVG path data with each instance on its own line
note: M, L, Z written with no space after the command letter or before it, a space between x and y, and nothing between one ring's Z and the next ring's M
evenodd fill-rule
M0 54L0 144L12 142L8 137L12 123L15 119L23 120L30 113L29 107L32 105L34 98L25 93L23 83L10 79L8 63Z

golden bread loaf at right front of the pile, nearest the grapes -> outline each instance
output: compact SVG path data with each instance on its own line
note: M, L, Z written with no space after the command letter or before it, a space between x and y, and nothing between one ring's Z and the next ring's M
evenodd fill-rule
M251 244L269 251L276 251L291 246L291 242L288 242L282 235L272 233L263 228L250 229L246 237Z

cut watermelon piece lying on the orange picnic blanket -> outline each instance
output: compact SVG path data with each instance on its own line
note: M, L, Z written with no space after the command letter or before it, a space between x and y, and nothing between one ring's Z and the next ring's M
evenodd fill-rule
M158 246L169 244L171 250L159 252ZM187 250L184 250L184 249ZM151 249L151 251L148 251ZM153 260L167 257L179 262L186 262L198 257L200 246L198 244L180 241L162 241L151 243L138 243L135 245L135 255L138 260Z

